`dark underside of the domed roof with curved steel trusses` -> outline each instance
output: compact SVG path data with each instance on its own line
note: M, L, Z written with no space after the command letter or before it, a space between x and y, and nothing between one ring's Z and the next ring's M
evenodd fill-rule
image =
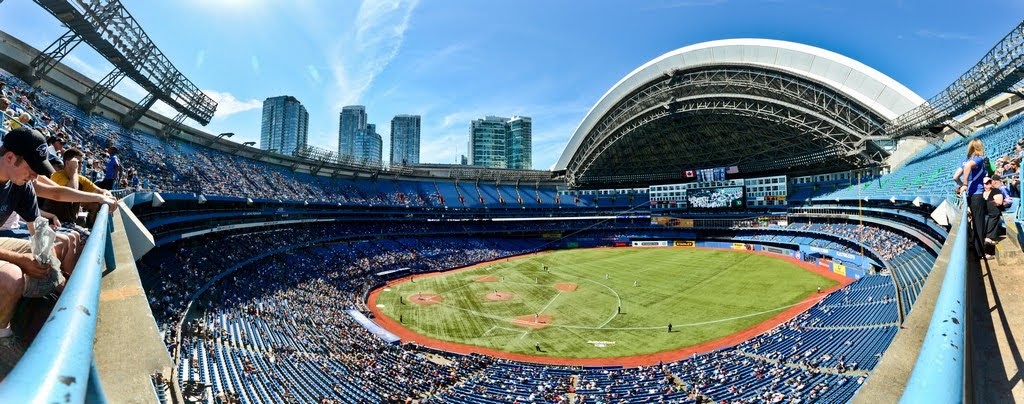
M630 182L624 173L644 173L640 181L679 178L697 166L739 166L741 172L865 166L888 155L868 143L885 122L834 89L781 72L749 65L677 71L609 110L578 148L567 175L582 184ZM778 159L781 150L786 159Z

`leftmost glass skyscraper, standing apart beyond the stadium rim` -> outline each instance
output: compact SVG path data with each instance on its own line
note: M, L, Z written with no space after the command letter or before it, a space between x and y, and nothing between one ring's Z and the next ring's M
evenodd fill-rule
M263 100L260 149L291 155L306 146L308 132L309 114L298 99L282 95Z

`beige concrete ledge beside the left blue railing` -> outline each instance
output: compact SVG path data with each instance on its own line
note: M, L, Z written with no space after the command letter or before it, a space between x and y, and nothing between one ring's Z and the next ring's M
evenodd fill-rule
M160 371L170 379L173 363L142 289L123 215L123 208L114 213L111 239L118 267L100 284L93 355L110 402L154 403L150 375Z

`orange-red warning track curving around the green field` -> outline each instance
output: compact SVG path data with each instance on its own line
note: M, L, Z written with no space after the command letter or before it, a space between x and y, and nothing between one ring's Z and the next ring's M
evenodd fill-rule
M713 250L713 249L709 249L709 250ZM722 249L722 250L729 250L729 249ZM730 250L730 251L735 251L735 250ZM852 279L847 278L846 276L843 276L843 275L840 275L840 274L837 274L837 273L833 273L831 271L829 271L826 268L819 267L819 266L814 265L812 263L803 262L803 261L800 261L800 260L798 260L796 258L793 258L793 257L786 257L786 256L781 256L781 255L771 254L771 253L765 253L765 252L754 252L754 251L744 251L744 252L748 253L748 254L759 254L759 255L766 256L766 257L774 257L774 258L785 260L785 261L787 261L787 262L790 262L792 264L796 264L796 265L800 266L801 268L804 268L804 269L809 270L811 272L814 272L814 273L817 273L819 275L825 276L825 277L827 277L829 279L836 280L836 281L840 282L840 284L837 285L837 286L834 286L831 288L828 288L828 289L822 289L819 299L813 299L813 295L812 295L812 296L808 297L809 299L807 299L807 301L805 301L804 303L801 303L801 304L799 304L797 306L791 307L791 308L786 309L785 311L782 311L782 312L776 314L775 316L773 316L773 317L771 317L771 318L769 318L769 319L767 319L767 320L765 320L765 321L763 321L763 322L761 322L761 323L759 323L757 325L754 325L754 326L752 326L750 328L746 328L744 330L741 330L739 332L736 332L736 333L733 333L733 334L729 334L729 335L720 338L718 340L709 341L709 342L703 343L703 344L699 344L699 345L695 345L695 346L690 346L690 347L685 347L685 348L680 348L680 349L672 350L672 351L658 352L658 353L646 354L646 355L635 355L635 356L617 357L617 358L552 358L552 357L546 357L546 356L535 356L535 355L526 355L526 354L516 354L516 353L511 353L511 352L498 351L498 350L494 350L494 349L489 349L489 348L476 347L476 346L472 346L472 345L450 343L450 342L446 342L446 341L440 341L440 340L431 339L431 338L428 338L428 336L425 336L425 335L421 335L421 334L418 334L418 333L414 332L413 330L411 330L409 328L406 328L403 325L399 324L397 321L392 320L390 317L385 316L384 313L382 313L380 311L380 309L377 308L377 297L380 295L381 289L384 288L383 286L382 287L378 287L377 289L375 289L373 293L370 294L370 297L367 300L367 306L370 307L370 310L374 313L374 317L375 317L374 321L376 321L378 324L380 324L380 326L384 327L388 331L391 331L395 335L398 335L398 338L400 338L402 340L402 342L406 342L406 343L415 343L417 345L421 345L421 346L424 346L424 347L430 347L430 348L439 349L439 350L442 350L442 351L449 351L449 352L454 352L454 353L464 354L464 355L475 353L475 354L483 354L483 355L494 356L496 358L510 359L510 360L516 360L516 361L521 361L521 362L543 363L543 364L549 364L549 365L636 367L636 366L652 365L652 364L656 364L658 362L674 362L674 361L678 361L678 360L682 360L682 359L688 358L688 357L690 357L692 355L695 355L695 354L702 354L702 353L706 353L706 352L711 352L711 351L719 350L719 349L722 349L722 348L732 347L732 346L734 346L736 344L742 343L742 342L744 342L746 340L750 340L750 339L752 339L754 336L757 336L757 335L759 335L759 334L761 334L761 333L763 333L763 332L765 332L765 331L767 331L769 329L772 329L775 326L777 326L777 325L779 325L779 324L781 324L783 322L788 321L790 319L796 317L800 313L803 313L807 309L811 308L811 306L813 306L814 304L816 304L820 299L824 299L824 297L827 296L828 294L833 293L834 290L838 290L840 288L843 288L844 286L846 286L846 285L848 285L848 284L850 284L850 283L853 282ZM541 254L544 254L544 253L541 253ZM528 254L528 255L523 255L523 256L518 256L518 257L525 257L525 256L529 256L529 255L536 255L536 254ZM516 258L516 257L513 257L513 258ZM479 264L476 264L476 265L472 265L472 266L460 268L460 269L457 269L455 271L470 270L470 269L473 269L473 268L478 268L478 267L481 267L481 266L490 265L490 264L496 263L496 262L508 261L508 260L509 259L506 258L506 259L501 259L501 260L496 260L496 261L490 261L490 262L483 262L483 263L479 263ZM452 272L453 271L435 272L435 273L431 273L431 274L415 275L415 277L416 278L433 277L433 276L438 276L438 275L441 275L441 274L445 274L446 275L446 274L452 273ZM387 282L387 284L388 285L392 285L392 284L395 284L395 283L401 283L401 282L404 282L404 281L409 281L410 278L411 278L411 276L407 276L407 277L403 277L403 278L400 278L400 279L396 279L396 280ZM529 322L532 322L532 320L534 320L532 316L529 316L529 317L530 317L528 319ZM524 324L517 324L517 325L524 325Z

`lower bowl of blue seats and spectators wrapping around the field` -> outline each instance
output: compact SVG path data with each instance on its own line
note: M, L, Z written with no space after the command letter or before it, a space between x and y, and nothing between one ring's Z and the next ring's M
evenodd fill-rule
M183 380L210 386L207 400L217 395L240 397L243 402L324 403L845 400L894 334L891 324L862 324L879 331L851 336L849 329L817 320L843 308L895 311L891 278L870 276L830 296L810 314L735 349L662 366L571 368L427 353L415 346L387 344L345 313L365 311L365 291L381 280L375 273L398 267L417 272L446 269L535 251L543 243L408 233L315 242L334 229L321 231L301 238L313 242L311 246L245 265L198 301L202 315L183 327L178 371ZM208 273L193 270L160 278L202 284L212 278L209 272L222 270L238 257L297 243L301 232L309 229L176 244L170 250L182 250L184 259L170 266L203 268ZM246 250L222 254L238 248ZM151 296L179 287L171 284L175 286ZM197 287L188 290L195 293ZM181 293L176 299L188 295ZM164 313L158 316L162 322L178 318L160 303L155 303L154 311Z

